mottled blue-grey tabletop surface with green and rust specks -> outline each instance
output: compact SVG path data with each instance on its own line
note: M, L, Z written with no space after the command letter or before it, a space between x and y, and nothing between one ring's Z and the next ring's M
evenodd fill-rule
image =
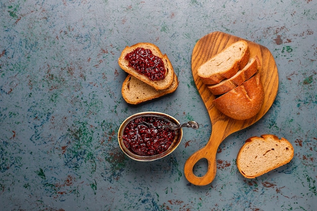
M315 210L317 1L27 1L0 3L1 210ZM225 139L207 186L184 163L211 134L191 75L197 40L222 31L267 47L279 70L268 113ZM166 53L177 91L138 106L125 103L126 46L149 42ZM129 159L117 130L141 111L196 120L169 156ZM293 160L245 179L235 159L251 136L288 139ZM197 175L206 171L195 167Z

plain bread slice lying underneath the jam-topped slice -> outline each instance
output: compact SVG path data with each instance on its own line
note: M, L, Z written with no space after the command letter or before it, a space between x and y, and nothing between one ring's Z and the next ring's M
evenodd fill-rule
M127 103L133 105L140 104L174 92L178 87L176 74L173 78L173 83L169 88L165 90L155 90L147 83L144 83L132 75L128 75L123 82L121 93Z

